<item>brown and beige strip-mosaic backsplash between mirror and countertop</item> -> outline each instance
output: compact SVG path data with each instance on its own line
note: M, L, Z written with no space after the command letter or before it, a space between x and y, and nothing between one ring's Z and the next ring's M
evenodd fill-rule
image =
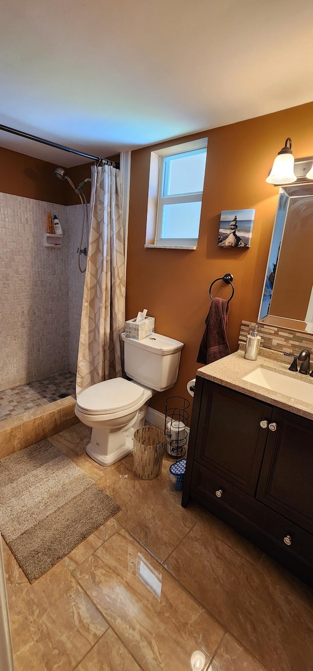
M239 335L239 343L245 343L247 334L251 333L255 321L242 321ZM288 331L281 326L269 326L269 324L258 323L258 334L261 335L261 347L275 352L295 352L300 350L313 350L313 334L301 333L300 331Z

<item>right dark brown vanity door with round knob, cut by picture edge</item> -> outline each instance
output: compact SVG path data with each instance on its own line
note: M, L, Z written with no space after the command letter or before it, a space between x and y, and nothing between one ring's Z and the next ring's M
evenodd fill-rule
M313 533L313 423L274 408L257 499Z

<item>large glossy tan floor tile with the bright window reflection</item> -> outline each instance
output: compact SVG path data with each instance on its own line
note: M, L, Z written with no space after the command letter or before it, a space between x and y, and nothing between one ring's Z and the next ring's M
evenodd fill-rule
M74 570L144 671L186 671L200 643L212 657L224 630L122 529Z

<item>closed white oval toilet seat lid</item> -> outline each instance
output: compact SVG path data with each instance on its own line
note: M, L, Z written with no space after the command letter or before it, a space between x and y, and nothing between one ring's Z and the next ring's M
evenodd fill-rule
M84 412L105 415L127 410L140 401L141 397L141 386L124 378L115 378L92 384L82 391L76 403Z

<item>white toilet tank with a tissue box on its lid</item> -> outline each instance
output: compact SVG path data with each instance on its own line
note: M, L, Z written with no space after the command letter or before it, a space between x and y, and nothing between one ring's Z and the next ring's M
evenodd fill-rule
M165 391L175 384L183 342L160 333L151 333L142 340L122 333L122 338L125 373L131 380L155 391Z

